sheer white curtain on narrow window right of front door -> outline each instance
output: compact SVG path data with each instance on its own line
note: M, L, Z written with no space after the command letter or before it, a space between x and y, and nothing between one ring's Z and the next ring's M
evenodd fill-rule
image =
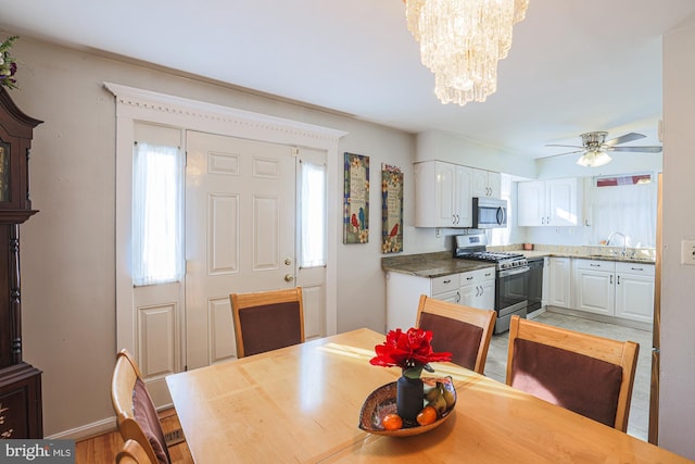
M326 165L300 163L300 267L326 265Z

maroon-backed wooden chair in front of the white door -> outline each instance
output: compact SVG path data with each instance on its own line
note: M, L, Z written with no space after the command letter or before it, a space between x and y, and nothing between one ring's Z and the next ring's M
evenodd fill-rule
M230 293L237 358L304 342L302 288Z

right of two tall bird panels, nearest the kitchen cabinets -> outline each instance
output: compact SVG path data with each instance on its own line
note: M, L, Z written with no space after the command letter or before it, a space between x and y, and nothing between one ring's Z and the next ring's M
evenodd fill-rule
M403 251L403 173L381 163L381 252Z

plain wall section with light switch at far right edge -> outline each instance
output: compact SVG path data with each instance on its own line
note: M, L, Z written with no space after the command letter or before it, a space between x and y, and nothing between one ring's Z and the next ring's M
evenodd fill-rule
M695 459L695 266L680 264L695 239L695 15L664 38L664 260L659 443ZM647 348L647 347L645 347Z

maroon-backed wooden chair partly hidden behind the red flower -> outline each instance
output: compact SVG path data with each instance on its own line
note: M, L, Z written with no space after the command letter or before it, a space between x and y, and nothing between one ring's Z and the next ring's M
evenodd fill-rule
M452 362L484 374L497 314L420 296L416 327L432 330L432 349L448 351Z

